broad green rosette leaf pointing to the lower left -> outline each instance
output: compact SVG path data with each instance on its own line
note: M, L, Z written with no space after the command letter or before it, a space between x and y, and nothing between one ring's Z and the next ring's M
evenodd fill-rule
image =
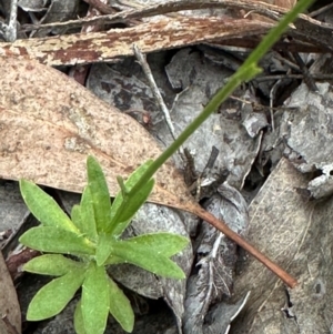
M28 307L28 321L41 321L60 313L74 296L84 280L84 270L77 269L51 281L32 298Z

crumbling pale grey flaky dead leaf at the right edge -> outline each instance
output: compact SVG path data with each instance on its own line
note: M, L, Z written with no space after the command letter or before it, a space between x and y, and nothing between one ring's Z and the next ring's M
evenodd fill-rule
M329 82L316 83L317 92L309 91L303 83L284 110L285 138L291 149L289 159L303 173L320 171L306 186L310 196L321 199L333 193L333 90Z

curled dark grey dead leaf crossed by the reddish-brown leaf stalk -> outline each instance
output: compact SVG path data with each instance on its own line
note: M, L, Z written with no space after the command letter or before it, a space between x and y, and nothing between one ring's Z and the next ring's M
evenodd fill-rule
M229 227L244 235L249 224L245 200L228 182L219 186L218 192L206 203L205 209L216 217L223 219ZM211 305L221 304L224 312L229 308L228 306L234 308L233 304L228 305L225 298L223 302L222 298L223 296L230 297L232 294L233 272L238 260L236 245L209 224L201 226L196 243L198 262L195 266L199 272L190 276L188 282L184 313L185 334L200 334L205 331L204 327L208 326L205 315ZM221 317L224 331L220 327L221 332L219 333L224 333L230 325L230 318L225 314L221 314ZM212 316L212 318L210 324L211 327L214 327L218 316ZM206 333L210 332L206 330Z

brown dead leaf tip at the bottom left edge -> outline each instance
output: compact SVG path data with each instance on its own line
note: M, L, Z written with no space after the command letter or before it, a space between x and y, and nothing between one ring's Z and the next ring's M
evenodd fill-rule
M0 314L6 316L10 325L21 333L21 310L16 287L11 281L2 253L0 252ZM0 333L12 334L12 328L0 318Z

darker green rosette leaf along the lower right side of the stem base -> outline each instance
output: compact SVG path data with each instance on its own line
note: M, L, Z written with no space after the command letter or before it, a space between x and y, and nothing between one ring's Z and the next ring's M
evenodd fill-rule
M154 186L154 180L149 180L138 192L134 194L129 194L127 199L123 201L123 205L120 206L119 212L117 214L117 221L110 224L110 229L108 233L112 235L120 236L127 226L130 224L131 219L138 212L138 210L142 206L142 204L149 198L151 191Z

